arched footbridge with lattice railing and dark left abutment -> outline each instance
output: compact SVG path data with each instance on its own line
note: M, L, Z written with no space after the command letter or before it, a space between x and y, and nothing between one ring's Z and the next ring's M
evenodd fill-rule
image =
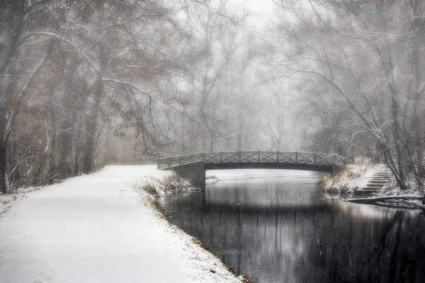
M339 155L284 151L220 151L198 152L158 160L159 170L174 170L191 179L197 186L205 185L205 170L268 168L336 172L344 166Z

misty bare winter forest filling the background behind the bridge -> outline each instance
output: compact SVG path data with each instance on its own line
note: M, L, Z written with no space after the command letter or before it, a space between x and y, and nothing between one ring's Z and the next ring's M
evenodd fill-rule
M422 192L424 15L420 0L1 1L0 191L298 150L385 163Z

